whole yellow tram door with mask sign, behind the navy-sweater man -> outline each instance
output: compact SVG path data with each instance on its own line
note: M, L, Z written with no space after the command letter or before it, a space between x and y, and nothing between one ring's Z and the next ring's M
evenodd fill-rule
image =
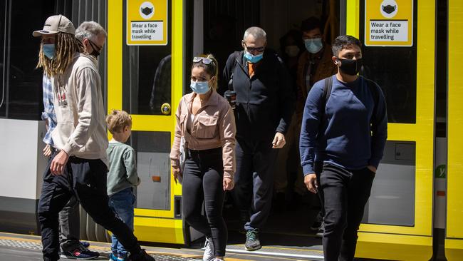
M356 256L430 260L435 1L347 0L345 31L363 43L363 73L383 88L388 121Z

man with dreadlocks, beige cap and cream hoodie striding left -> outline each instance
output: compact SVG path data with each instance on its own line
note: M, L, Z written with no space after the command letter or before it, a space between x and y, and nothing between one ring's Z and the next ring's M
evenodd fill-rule
M51 134L56 152L43 174L38 201L43 260L59 259L58 212L73 195L95 222L118 237L130 252L130 260L155 260L141 249L130 228L108 207L108 138L101 79L95 56L88 51L81 53L83 48L75 31L71 21L57 15L48 17L43 30L33 32L33 36L42 37L38 67L51 76L57 120ZM103 30L89 39L96 41L105 36ZM103 44L99 47L103 48Z

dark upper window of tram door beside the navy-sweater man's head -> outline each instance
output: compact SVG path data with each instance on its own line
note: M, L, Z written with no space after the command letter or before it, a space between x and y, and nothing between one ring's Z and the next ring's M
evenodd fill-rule
M383 89L387 122L416 123L417 98L417 1L413 2L413 46L363 46L365 77ZM365 39L365 1L360 1L360 39Z

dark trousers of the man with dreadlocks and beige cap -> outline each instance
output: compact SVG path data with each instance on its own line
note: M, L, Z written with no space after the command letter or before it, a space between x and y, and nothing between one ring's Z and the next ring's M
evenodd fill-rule
M53 154L52 158L56 155ZM101 160L71 157L62 175L51 175L50 163L43 174L43 185L38 201L38 221L41 225L43 260L58 260L58 213L73 195L85 211L107 230L113 232L132 254L140 252L137 238L127 225L116 218L108 207L106 173Z

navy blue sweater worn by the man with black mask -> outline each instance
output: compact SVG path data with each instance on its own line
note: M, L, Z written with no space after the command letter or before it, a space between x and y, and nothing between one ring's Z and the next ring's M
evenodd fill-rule
M375 97L365 79L359 76L351 83L343 83L335 75L332 77L333 87L325 108L326 120L321 121L325 79L315 83L307 96L299 145L304 175L314 173L315 161L348 170L368 165L378 168L387 139L386 105L381 88L373 84L379 97L376 115L370 122ZM320 128L320 124L324 126ZM318 136L319 131L323 133Z

